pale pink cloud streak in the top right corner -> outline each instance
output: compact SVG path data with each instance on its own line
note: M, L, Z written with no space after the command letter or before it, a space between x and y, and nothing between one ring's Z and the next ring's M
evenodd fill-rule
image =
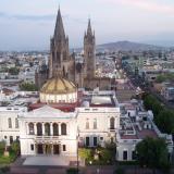
M104 2L121 3L136 7L150 12L174 14L174 5L157 3L154 0L102 0Z

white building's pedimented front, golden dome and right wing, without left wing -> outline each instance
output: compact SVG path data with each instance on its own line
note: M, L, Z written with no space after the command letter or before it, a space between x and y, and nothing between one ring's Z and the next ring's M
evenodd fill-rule
M40 103L18 115L22 156L77 156L77 146L115 141L120 108L114 91L79 91L65 78L49 79Z

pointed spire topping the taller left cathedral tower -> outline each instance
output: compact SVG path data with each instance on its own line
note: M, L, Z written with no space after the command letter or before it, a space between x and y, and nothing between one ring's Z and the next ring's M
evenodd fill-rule
M63 27L63 21L61 15L61 10L59 5L59 11L57 15L57 23L55 23L55 29L54 29L54 39L60 40L65 38L64 27Z

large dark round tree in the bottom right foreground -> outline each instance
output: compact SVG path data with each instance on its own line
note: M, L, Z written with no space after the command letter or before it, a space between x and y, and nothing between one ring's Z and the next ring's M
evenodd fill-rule
M167 147L161 138L145 138L136 146L137 161L141 166L152 169L156 173L157 169L166 170L170 166L167 159Z

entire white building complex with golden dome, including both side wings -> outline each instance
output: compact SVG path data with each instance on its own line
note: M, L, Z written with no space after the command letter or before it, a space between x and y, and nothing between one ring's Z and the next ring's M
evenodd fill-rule
M40 96L44 102L29 111L22 105L0 108L0 140L10 145L20 137L22 156L76 159L78 147L115 142L116 160L132 161L136 145L147 136L164 138L173 151L172 136L160 133L152 112L137 100L119 104L114 91L77 91L66 79L49 80Z

